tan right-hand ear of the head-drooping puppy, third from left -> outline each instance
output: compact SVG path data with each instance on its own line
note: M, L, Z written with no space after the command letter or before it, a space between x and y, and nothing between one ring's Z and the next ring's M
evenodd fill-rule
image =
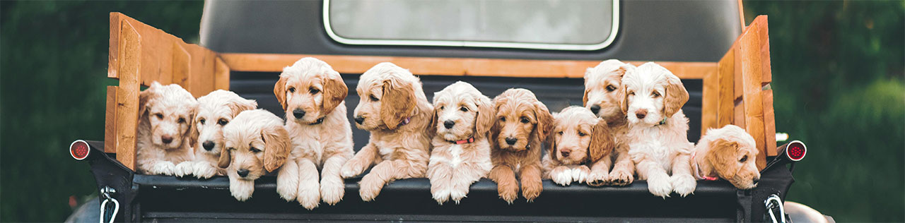
M289 156L289 133L282 125L272 125L261 133L264 141L264 170L273 172L286 163Z

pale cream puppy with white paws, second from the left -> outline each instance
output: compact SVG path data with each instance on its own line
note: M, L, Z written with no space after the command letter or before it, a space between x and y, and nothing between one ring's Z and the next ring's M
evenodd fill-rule
M254 100L248 100L228 90L214 90L198 98L198 110L195 115L195 127L192 135L197 137L195 144L195 161L176 165L176 176L195 175L195 177L211 178L224 175L226 170L217 166L220 150L223 149L223 127L244 110L258 107Z

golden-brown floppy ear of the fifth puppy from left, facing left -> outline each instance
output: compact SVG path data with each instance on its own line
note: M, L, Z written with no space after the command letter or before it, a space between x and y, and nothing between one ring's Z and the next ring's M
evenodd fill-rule
M384 125L392 130L414 111L417 103L414 100L414 87L405 81L391 78L384 80L383 92L384 96L380 99L380 117Z

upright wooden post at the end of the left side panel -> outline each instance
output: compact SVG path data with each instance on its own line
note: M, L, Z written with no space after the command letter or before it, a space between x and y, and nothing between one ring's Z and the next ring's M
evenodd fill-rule
M138 74L141 69L141 36L127 22L121 21L119 38L119 89L116 106L117 160L135 170L135 147L138 127Z

